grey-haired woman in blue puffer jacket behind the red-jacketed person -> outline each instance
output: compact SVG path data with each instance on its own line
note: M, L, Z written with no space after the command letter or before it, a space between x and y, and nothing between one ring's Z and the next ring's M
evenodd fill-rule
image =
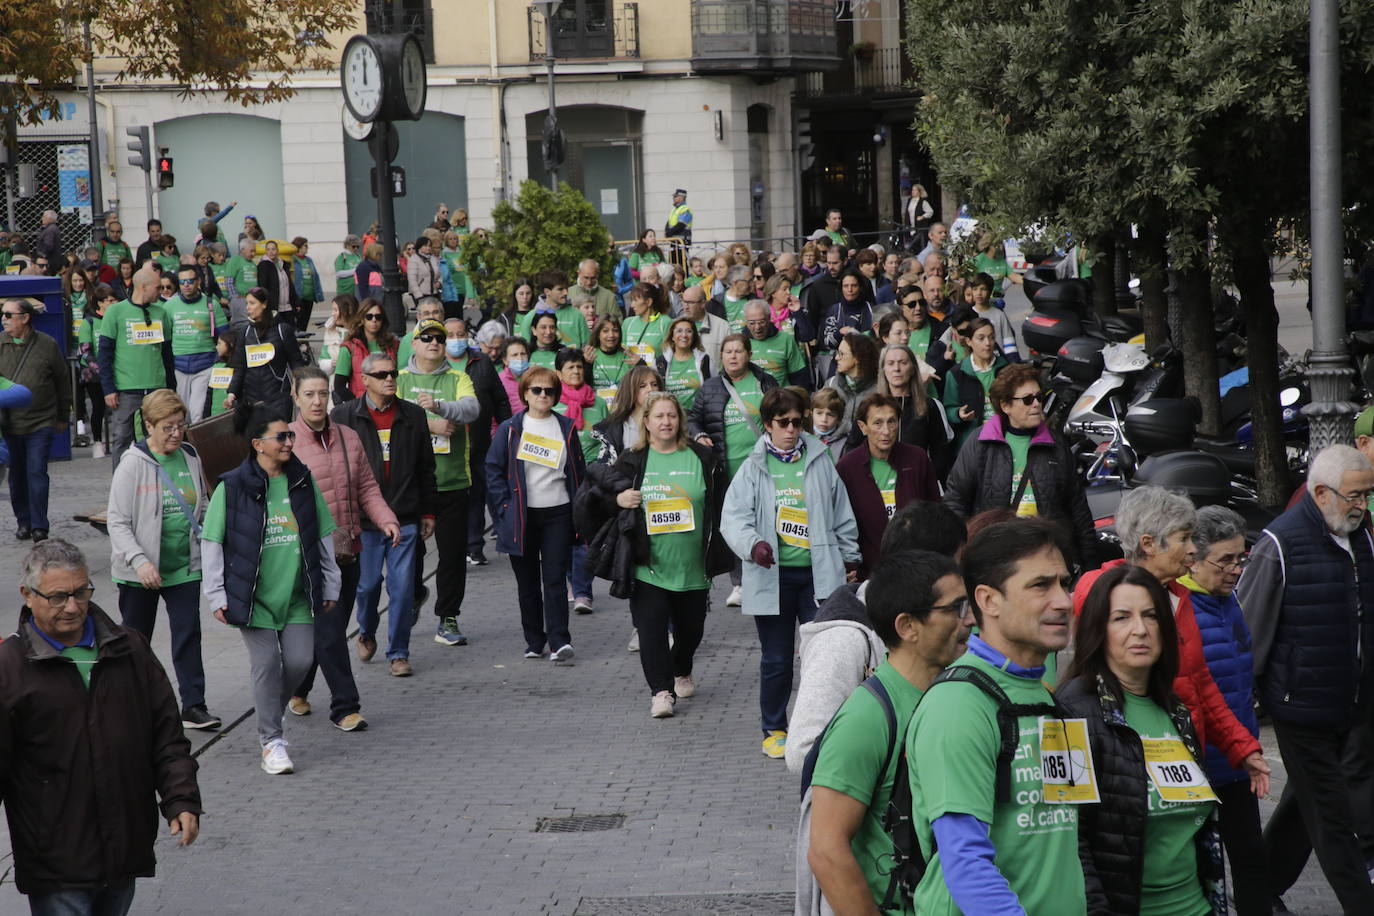
M1205 505L1198 509L1193 525L1193 544L1197 547L1197 562L1187 575L1179 578L1179 585L1191 592L1208 670L1235 718L1259 737L1250 628L1245 623L1241 603L1235 600L1235 584L1249 559L1245 552L1245 519L1226 507ZM1250 792L1249 773L1231 766L1226 754L1210 743L1205 766L1212 788L1221 799L1221 843L1231 862L1235 912L1241 916L1268 913L1274 882L1270 880L1260 832L1260 803Z

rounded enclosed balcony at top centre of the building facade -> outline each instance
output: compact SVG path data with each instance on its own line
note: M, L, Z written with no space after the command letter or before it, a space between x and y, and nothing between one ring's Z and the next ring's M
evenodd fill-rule
M698 73L833 70L834 0L692 0L691 66Z

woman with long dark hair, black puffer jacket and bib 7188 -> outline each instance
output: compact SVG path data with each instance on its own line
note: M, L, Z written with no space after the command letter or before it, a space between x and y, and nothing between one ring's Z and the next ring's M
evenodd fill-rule
M1074 805L1090 913L1228 912L1217 798L1193 717L1173 694L1178 670L1164 586L1140 567L1103 574L1083 603L1073 662L1055 691L1065 750L1041 747L1046 792L1057 776L1059 791L1096 794Z

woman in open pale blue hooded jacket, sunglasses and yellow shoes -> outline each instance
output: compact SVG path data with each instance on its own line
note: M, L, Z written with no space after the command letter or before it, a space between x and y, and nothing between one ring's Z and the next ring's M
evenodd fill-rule
M802 430L807 407L790 387L764 396L764 435L731 481L720 522L721 536L743 562L743 612L754 618L763 650L763 753L772 758L787 747L797 625L815 617L819 600L855 581L861 559L840 472L829 449Z

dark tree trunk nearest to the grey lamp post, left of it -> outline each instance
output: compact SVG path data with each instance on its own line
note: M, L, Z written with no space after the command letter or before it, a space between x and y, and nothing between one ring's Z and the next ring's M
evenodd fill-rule
M1252 235L1230 246L1235 286L1245 308L1246 363L1250 367L1250 420L1254 424L1254 477L1260 503L1282 507L1292 494L1283 408L1279 407L1279 316L1264 246Z

